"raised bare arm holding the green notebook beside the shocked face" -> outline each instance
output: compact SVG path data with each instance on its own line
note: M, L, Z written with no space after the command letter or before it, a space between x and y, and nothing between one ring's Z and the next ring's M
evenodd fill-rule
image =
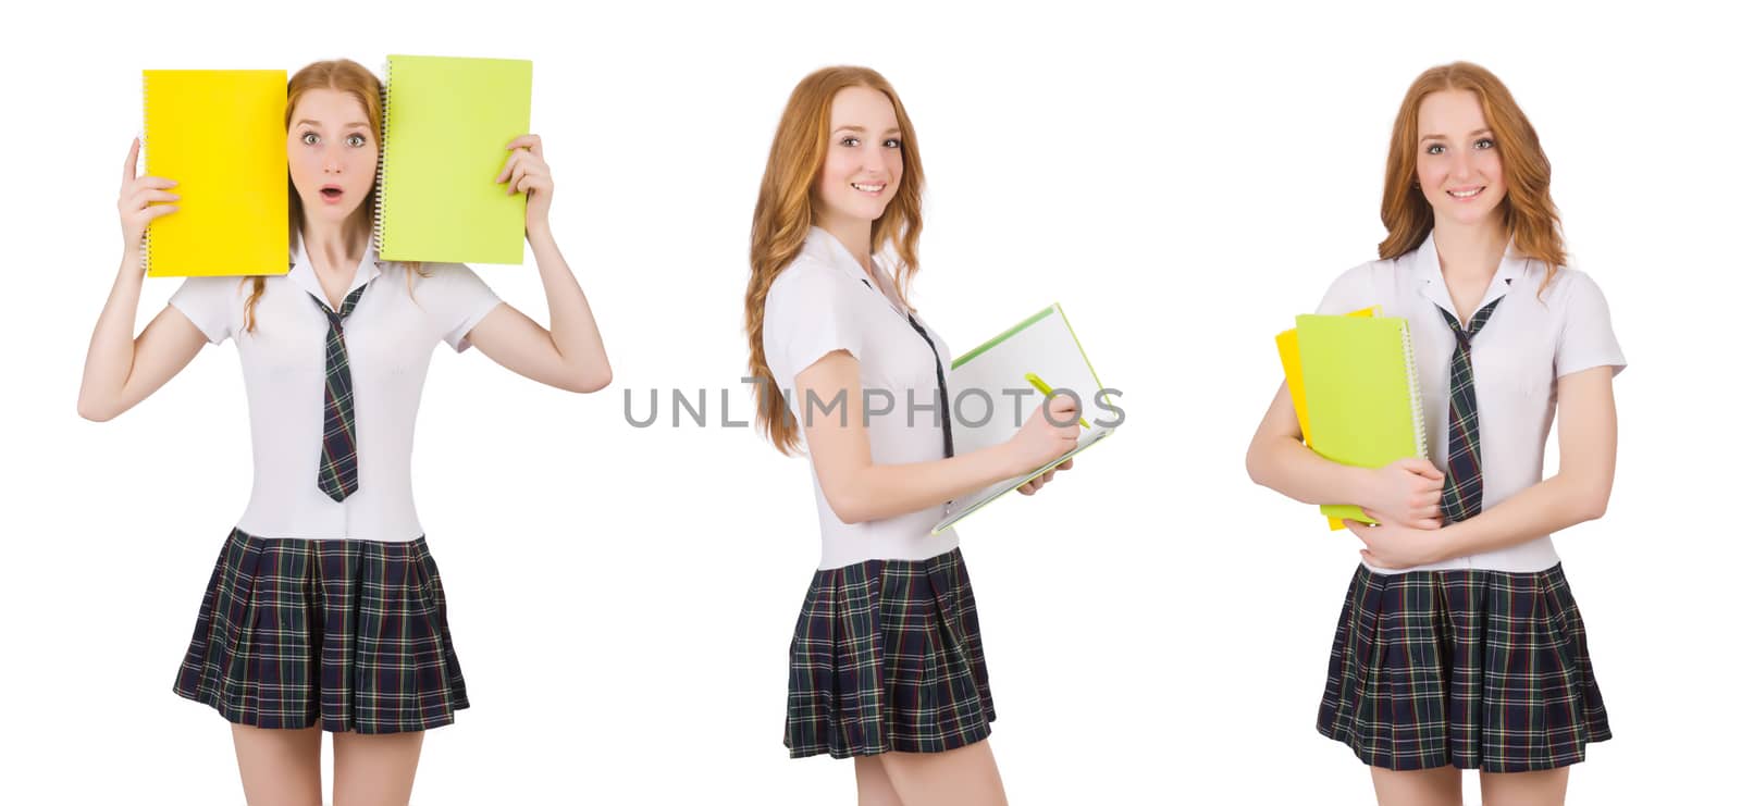
M468 339L496 364L538 383L568 392L597 392L611 383L611 360L604 353L604 338L592 319L587 294L562 259L550 235L550 195L555 185L550 167L543 162L543 144L536 134L528 134L508 144L514 151L496 178L510 193L526 193L526 242L538 261L545 301L550 306L550 329L543 329L512 305L498 305L486 315Z

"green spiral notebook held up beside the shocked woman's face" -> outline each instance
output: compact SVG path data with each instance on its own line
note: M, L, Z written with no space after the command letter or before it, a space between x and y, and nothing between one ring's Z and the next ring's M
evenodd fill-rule
M533 63L388 56L374 237L383 259L522 263L526 195L496 174L531 131Z

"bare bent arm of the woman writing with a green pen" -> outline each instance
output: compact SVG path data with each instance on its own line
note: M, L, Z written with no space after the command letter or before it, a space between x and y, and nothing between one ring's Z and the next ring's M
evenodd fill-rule
M1055 397L1050 404L1052 421L1062 423L1059 427L1050 425L1036 409L1022 430L999 446L947 460L877 465L870 461L870 437L864 423L858 359L836 350L799 373L794 383L797 400L841 400L843 409L822 414L817 407L813 416L799 416L799 427L804 428L822 494L848 524L942 505L1041 467L1076 446L1076 407L1067 397ZM803 413L804 406L797 409Z

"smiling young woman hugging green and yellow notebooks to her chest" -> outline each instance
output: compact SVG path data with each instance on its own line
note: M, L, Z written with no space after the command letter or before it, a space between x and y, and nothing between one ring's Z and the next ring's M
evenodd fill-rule
M1549 534L1602 517L1612 378L1626 360L1590 275L1567 268L1548 158L1492 73L1422 73L1391 134L1379 259L1318 306L1407 317L1431 461L1341 467L1301 444L1287 388L1247 467L1307 503L1358 503L1361 566L1337 623L1318 731L1372 768L1382 804L1563 803L1607 740L1584 625ZM1560 467L1543 479L1555 407Z

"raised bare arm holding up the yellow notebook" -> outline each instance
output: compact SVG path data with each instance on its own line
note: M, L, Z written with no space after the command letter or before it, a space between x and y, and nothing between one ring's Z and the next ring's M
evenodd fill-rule
M138 158L139 141L134 139L122 169L122 193L117 202L122 218L120 273L110 289L108 303L103 305L103 313L97 315L91 350L85 353L84 383L78 386L78 416L85 420L103 421L120 416L174 378L205 346L205 334L171 306L164 306L139 338L132 336L132 324L139 315L139 287L145 284L139 242L153 219L176 211L176 205L151 202L179 198L167 191L174 185L167 179L136 178Z

